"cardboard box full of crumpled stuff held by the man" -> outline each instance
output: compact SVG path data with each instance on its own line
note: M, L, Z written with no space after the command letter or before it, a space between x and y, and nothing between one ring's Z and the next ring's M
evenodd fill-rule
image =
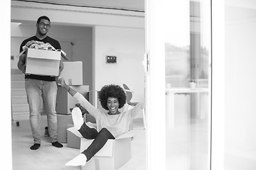
M58 77L61 52L28 48L26 74Z

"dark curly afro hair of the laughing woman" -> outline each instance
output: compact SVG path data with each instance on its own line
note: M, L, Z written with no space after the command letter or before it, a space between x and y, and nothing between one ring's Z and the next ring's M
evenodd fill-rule
M122 89L121 86L110 84L110 85L105 85L102 87L102 89L99 92L99 99L100 99L100 104L102 108L107 108L107 98L117 98L119 102L119 108L122 108L124 104L126 103L126 94L124 92L124 89Z

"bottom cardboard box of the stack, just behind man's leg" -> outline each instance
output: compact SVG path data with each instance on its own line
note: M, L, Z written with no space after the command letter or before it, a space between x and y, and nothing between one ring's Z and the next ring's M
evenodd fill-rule
M57 114L57 136L58 142L67 142L67 125L73 124L72 115Z

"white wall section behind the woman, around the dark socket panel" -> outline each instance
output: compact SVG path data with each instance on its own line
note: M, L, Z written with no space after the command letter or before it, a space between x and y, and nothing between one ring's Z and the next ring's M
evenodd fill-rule
M106 56L117 57L107 64ZM132 101L144 101L144 29L95 27L95 89L105 84L127 84Z

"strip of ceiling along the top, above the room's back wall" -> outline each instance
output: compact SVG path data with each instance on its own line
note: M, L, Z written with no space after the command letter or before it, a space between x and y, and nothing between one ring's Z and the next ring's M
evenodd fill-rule
M144 0L12 0L32 1L47 4L65 4L74 6L92 6L99 8L118 8L131 11L144 11Z

